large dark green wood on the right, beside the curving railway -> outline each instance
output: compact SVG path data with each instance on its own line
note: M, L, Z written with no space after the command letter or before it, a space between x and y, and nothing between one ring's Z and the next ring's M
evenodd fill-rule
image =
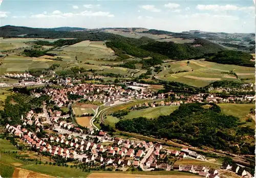
M254 130L239 126L239 118L221 113L215 104L182 104L167 116L120 120L116 128L157 138L179 139L193 146L210 146L233 153L254 154L255 146L244 142ZM239 147L233 146L239 144Z

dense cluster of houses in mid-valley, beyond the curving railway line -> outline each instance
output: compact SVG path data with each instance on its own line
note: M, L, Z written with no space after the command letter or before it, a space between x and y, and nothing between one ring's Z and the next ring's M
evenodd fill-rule
M124 90L121 86L116 85L96 85L96 84L78 84L63 89L46 89L45 93L52 97L52 100L58 107L68 104L68 94L80 95L83 99L89 101L98 101L100 103L114 102L123 98L130 99L152 97L151 92L138 92L137 90ZM34 93L39 95L40 93Z

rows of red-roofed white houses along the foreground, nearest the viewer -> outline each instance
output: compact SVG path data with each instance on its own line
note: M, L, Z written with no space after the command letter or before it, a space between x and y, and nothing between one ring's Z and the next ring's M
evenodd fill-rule
M62 125L65 124L65 122L61 123ZM48 135L47 138L40 139L27 129L22 129L20 125L15 127L7 124L6 129L34 149L39 152L48 152L51 156L58 155L66 159L78 159L85 163L97 162L100 165L106 166L129 167L133 165L134 167L143 166L143 168L151 170L155 168L161 168L164 170L174 169L178 171L197 173L201 176L210 178L221 177L218 174L219 171L217 169L204 165L174 164L172 166L165 162L159 162L159 158L163 159L166 155L172 155L173 157L180 158L190 157L195 159L204 159L202 155L199 155L188 148L182 148L180 151L163 150L162 145L159 143L154 144L152 142L146 143L141 140L125 140L119 137L110 138L110 141L113 142L113 144L103 146L100 142L97 143L95 141L84 140L69 134L57 134L55 136ZM97 137L106 138L108 136L106 132L100 131ZM58 143L57 146L56 144L53 144L53 142ZM160 154L160 150L164 151L166 154ZM149 151L151 151L151 154L143 161L143 158ZM221 168L233 171L243 177L252 177L248 171L239 165L230 166L228 163L223 163Z

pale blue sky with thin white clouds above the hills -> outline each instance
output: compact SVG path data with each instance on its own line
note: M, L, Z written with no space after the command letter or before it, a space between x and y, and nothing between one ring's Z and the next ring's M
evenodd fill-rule
M171 32L255 32L253 0L0 0L0 3L0 26L88 29L141 27Z

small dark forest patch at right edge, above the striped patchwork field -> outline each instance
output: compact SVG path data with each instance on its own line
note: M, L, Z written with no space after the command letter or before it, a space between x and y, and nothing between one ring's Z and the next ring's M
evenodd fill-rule
M216 54L205 55L205 58L206 61L220 64L233 64L247 67L254 67L255 65L255 62L250 61L253 59L250 54L236 50L223 50Z

